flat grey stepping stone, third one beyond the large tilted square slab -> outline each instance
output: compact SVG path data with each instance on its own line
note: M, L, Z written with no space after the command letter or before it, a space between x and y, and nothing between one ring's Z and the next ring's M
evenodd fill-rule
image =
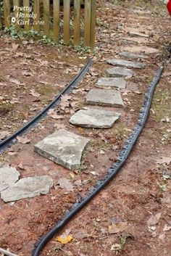
M102 88L125 88L126 81L123 78L99 78L99 80L96 83L96 86Z

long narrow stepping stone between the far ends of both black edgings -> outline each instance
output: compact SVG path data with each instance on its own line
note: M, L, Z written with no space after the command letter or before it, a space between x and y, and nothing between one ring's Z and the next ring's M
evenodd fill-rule
M124 66L124 67L133 67L133 68L144 68L146 67L145 63L141 62L130 62L129 60L124 59L108 59L108 64L114 65L114 66Z

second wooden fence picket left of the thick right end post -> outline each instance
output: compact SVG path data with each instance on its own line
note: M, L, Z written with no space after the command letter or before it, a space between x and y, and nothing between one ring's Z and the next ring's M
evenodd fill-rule
M70 43L70 0L64 1L64 44Z

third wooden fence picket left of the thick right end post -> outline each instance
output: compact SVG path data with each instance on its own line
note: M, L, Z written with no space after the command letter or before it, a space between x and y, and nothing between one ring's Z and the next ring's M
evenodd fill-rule
M54 41L59 42L59 14L60 14L60 0L53 1L53 31Z

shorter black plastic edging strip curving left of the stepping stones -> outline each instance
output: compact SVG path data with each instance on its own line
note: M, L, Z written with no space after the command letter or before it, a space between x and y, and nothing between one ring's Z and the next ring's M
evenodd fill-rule
M51 108L55 107L55 105L57 105L60 102L61 97L64 94L70 93L70 91L72 91L72 89L78 85L80 80L83 78L83 76L88 71L89 67L91 67L92 63L93 63L93 59L88 59L88 62L82 68L82 70L80 70L78 75L75 76L75 78L54 98L54 100L52 102L50 102L43 110L41 110L41 112L38 113L38 115L33 117L30 121L28 121L28 123L23 125L19 130L17 130L15 133L13 133L11 136L9 136L7 139L4 139L4 141L1 141L0 142L0 152L4 151L4 149L7 146L14 144L16 142L17 136L19 136L22 133L25 133L25 131L28 131L28 129L32 128L34 125L36 125L36 123L40 122L40 120L43 119L43 117L45 117L47 115L47 112Z

